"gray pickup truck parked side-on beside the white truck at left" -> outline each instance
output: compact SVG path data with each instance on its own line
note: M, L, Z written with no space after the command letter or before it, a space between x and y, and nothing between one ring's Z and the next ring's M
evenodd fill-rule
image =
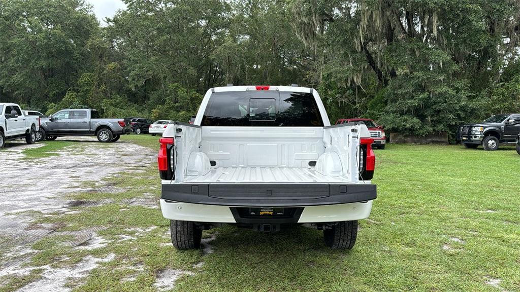
M121 134L131 131L128 118L99 118L99 113L93 109L67 109L41 119L40 139L94 135L99 142L115 142Z

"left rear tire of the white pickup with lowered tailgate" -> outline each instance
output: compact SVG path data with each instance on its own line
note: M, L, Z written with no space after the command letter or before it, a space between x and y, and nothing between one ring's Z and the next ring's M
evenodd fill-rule
M191 221L170 220L172 244L177 249L200 248L202 230Z

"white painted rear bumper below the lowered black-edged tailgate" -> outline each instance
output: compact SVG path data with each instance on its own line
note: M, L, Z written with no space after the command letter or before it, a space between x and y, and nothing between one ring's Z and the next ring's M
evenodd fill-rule
M233 215L230 206L201 205L179 202L167 202L161 199L164 218L207 223L240 223ZM296 223L340 222L366 219L372 210L372 201L326 206L304 207ZM263 222L276 221L265 218Z

